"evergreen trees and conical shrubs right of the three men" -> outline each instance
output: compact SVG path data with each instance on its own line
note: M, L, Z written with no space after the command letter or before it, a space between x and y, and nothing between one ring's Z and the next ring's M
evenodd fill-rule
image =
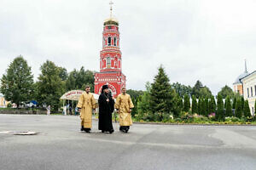
M130 92L135 102L132 114L138 120L166 122L173 117L186 118L193 115L213 117L214 121L224 121L225 117L252 117L248 101L240 94L235 94L227 85L218 92L215 99L210 89L200 81L195 82L193 88L179 82L171 84L162 65L154 82L146 83L143 94L135 90Z

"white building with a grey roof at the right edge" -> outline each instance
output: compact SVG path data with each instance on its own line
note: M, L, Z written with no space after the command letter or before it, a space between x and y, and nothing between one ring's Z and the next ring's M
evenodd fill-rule
M254 114L255 99L256 99L256 71L248 74L246 77L241 78L242 91L244 99L248 100L251 114Z

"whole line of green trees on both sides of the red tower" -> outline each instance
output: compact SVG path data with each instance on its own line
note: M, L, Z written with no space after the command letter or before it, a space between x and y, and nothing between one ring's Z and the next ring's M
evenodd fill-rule
M0 92L17 107L37 100L38 105L51 105L54 111L58 111L61 95L66 91L84 90L85 84L94 91L94 72L85 71L83 66L67 73L67 69L46 60L40 71L38 80L34 82L26 59L21 55L16 57L1 78ZM199 80L193 88L179 82L171 84L162 65L154 82L146 83L145 91L128 89L127 93L135 105L132 116L145 121L161 122L193 114L214 116L217 121L224 121L227 116L251 116L248 101L234 94L230 87L224 86L215 99L211 90Z

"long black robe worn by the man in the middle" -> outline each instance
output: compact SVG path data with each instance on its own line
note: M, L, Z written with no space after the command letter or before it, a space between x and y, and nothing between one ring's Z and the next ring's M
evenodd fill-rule
M109 101L107 101L109 99ZM114 100L110 94L101 94L99 104L99 130L113 133L112 112Z

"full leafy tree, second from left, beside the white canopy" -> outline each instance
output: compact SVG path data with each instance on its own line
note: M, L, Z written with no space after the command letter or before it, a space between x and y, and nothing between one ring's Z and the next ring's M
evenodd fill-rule
M59 67L47 60L40 70L37 82L38 102L41 105L51 105L51 108L57 111L61 95L65 93L65 82L61 81Z

